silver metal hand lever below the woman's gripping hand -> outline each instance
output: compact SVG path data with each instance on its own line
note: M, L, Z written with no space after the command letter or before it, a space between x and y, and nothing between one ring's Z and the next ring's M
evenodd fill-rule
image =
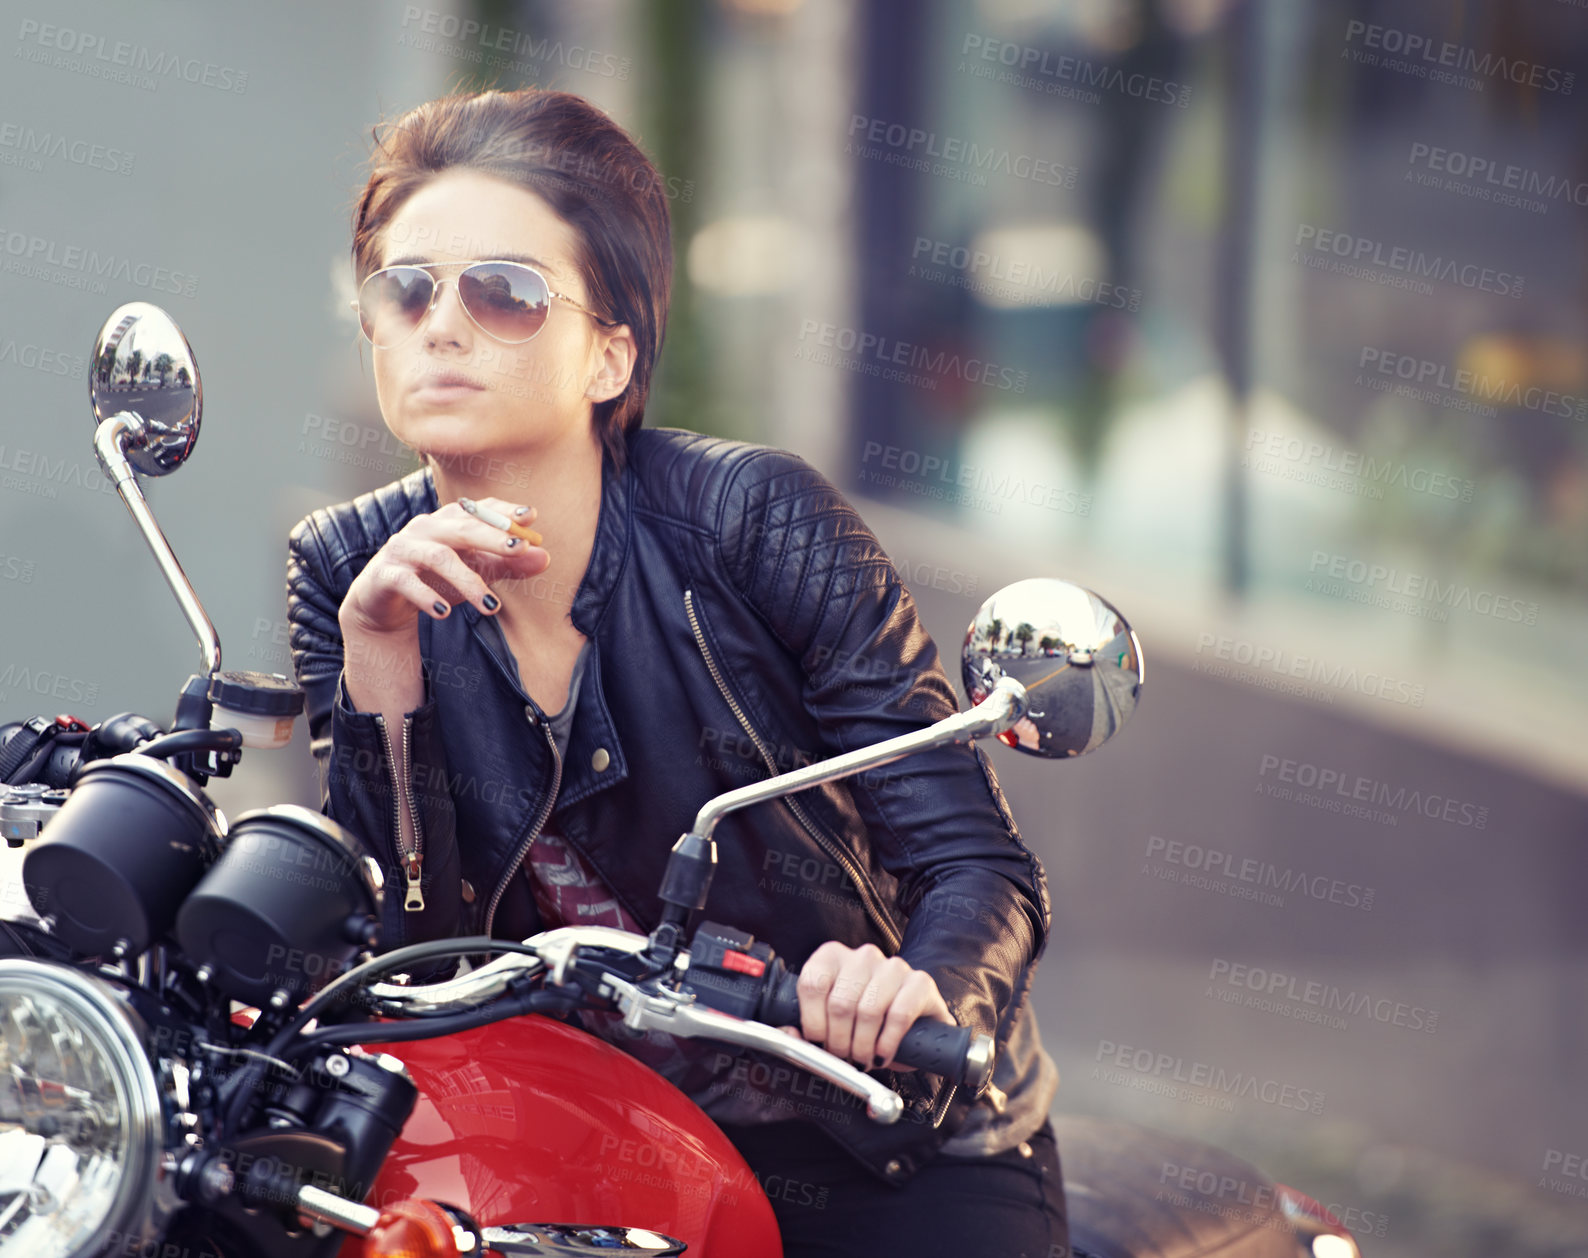
M630 1031L665 1031L680 1039L713 1039L742 1048L759 1048L861 1098L872 1121L897 1123L904 1113L899 1093L808 1040L707 1009L688 993L642 988L613 974L602 977L602 994L618 1005L622 1025Z

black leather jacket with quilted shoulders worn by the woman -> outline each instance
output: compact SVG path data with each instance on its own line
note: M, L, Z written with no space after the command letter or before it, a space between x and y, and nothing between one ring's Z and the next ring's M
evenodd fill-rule
M435 508L430 473L414 472L305 518L287 561L322 807L384 866L384 947L540 929L519 870L548 812L649 929L667 853L707 799L956 708L910 592L832 484L778 450L642 429L621 473L607 464L572 597L594 658L565 762L468 604L419 618L426 700L387 731L348 702L337 612L370 556ZM389 758L405 751L419 912L403 907L397 853ZM980 748L734 813L716 837L707 916L765 939L794 967L829 939L899 953L937 980L961 1025L1002 1048L1046 939L1048 896ZM889 1082L908 1102L892 1128L867 1123L850 1098L804 1113L897 1182L969 1101L932 1075Z

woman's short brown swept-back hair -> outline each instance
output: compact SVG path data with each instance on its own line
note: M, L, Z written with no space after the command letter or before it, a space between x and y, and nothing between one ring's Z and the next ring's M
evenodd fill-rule
M534 192L573 229L589 303L634 332L629 386L592 415L602 446L622 467L624 438L645 419L673 284L672 218L651 159L583 97L524 87L457 92L376 125L370 167L353 213L357 283L376 270L380 233L402 205L454 167Z

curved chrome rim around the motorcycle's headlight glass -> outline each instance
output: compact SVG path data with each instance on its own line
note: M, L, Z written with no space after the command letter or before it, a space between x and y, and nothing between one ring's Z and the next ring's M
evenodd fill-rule
M11 994L37 994L60 1005L100 1047L122 1098L121 1179L105 1217L75 1252L98 1253L116 1241L141 1244L164 1152L164 1106L141 1020L106 983L49 961L0 958L0 1010Z

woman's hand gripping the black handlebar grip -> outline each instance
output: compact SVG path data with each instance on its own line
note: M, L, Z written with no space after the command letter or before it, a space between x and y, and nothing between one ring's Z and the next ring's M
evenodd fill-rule
M932 975L873 944L816 948L800 967L799 1009L805 1039L865 1069L913 1069L892 1056L916 1018L954 1025Z

